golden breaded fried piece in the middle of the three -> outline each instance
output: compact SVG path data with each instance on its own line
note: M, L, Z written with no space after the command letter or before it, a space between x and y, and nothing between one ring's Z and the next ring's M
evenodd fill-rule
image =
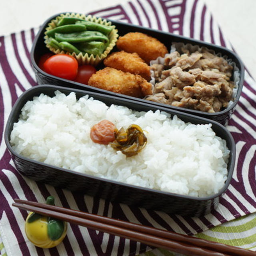
M136 52L113 52L104 60L104 65L124 72L140 75L147 81L150 81L150 66L148 66Z

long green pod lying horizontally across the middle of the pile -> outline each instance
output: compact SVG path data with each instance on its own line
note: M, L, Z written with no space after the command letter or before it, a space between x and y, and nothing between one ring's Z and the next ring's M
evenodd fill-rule
M68 34L55 33L55 39L58 42L66 41L69 43L79 43L88 41L108 42L108 37L98 31L83 31Z

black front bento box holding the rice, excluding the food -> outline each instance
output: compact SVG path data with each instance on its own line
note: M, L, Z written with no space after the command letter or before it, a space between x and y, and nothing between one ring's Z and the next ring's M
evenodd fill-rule
M227 147L230 150L228 177L224 187L217 194L204 198L183 196L124 184L121 182L74 172L72 170L54 167L49 164L30 160L24 156L21 156L20 154L17 154L10 145L10 134L12 132L14 122L18 121L22 107L28 100L32 100L34 96L39 96L41 93L53 97L56 90L59 90L66 95L74 91L77 99L88 94L95 100L100 100L108 106L111 104L117 104L138 111L156 111L160 109L160 111L170 113L171 116L177 115L178 118L184 122L191 122L194 124L211 123L212 129L216 135L226 140ZM187 113L178 112L176 110L171 110L170 108L154 106L152 104L148 104L148 102L138 102L135 100L114 97L112 95L104 95L96 92L64 88L53 85L34 86L33 88L26 90L26 92L24 92L18 98L7 120L4 139L18 172L24 176L27 176L28 178L31 178L32 180L50 184L58 188L80 191L83 194L88 194L96 198L103 198L110 202L118 202L128 204L130 206L159 210L168 214L189 216L200 216L207 214L218 205L221 196L227 190L232 179L236 153L233 137L231 136L230 132L228 132L228 130L218 122L202 117L196 117Z

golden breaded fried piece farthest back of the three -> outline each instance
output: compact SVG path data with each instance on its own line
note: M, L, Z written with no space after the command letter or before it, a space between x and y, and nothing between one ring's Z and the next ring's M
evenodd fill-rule
M164 57L168 53L164 44L152 36L140 32L130 32L120 36L116 42L119 50L125 52L137 52L147 64L157 57Z

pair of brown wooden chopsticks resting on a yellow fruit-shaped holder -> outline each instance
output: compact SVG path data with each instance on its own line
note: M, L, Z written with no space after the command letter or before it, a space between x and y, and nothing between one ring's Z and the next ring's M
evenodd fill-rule
M44 216L51 216L72 224L189 256L256 256L256 252L250 250L177 234L158 228L116 220L60 206L20 199L14 199L14 201L15 203L13 203L12 206L23 210L36 212Z

